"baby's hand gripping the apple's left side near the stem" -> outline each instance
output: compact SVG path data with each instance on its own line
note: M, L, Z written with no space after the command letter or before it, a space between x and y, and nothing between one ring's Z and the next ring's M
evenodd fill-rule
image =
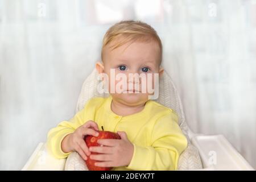
M63 152L76 151L80 156L87 160L87 156L90 155L90 151L84 142L85 135L93 135L98 137L98 125L94 121L88 121L84 125L78 127L74 133L67 135L61 142L61 148ZM86 156L87 155L87 156Z

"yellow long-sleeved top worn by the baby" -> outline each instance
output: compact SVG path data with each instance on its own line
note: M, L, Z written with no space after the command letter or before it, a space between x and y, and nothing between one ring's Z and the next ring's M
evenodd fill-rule
M176 170L181 152L187 147L187 138L178 125L174 110L148 100L139 113L121 116L110 108L112 96L95 97L86 102L70 121L63 121L48 133L47 147L56 158L67 158L61 150L63 138L77 127L92 120L105 131L125 131L134 145L134 153L128 166L112 170Z

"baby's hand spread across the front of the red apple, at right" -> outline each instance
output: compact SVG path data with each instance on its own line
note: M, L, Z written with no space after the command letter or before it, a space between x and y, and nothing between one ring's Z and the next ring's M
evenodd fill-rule
M97 142L104 146L90 147L92 154L90 159L100 160L94 165L99 167L119 167L128 166L133 157L133 143L129 141L124 131L118 131L121 139L98 139Z

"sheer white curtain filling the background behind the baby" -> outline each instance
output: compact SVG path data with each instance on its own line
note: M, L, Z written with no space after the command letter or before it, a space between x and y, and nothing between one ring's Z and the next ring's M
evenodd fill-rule
M75 114L115 22L158 31L196 133L224 134L256 168L256 1L0 0L0 169L20 169Z

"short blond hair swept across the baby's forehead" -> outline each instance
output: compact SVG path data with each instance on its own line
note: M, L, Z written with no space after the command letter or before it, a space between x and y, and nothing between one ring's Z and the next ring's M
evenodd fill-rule
M124 39L121 39L117 44L111 46L112 50L122 46L131 41L140 40L142 42L148 42L151 40L155 40L159 44L160 48L160 63L162 62L162 42L154 30L150 25L143 23L141 21L127 20L121 21L119 23L115 23L109 30L106 32L101 48L101 60L103 61L103 52L104 48L113 42L113 40L117 40L120 36L123 36ZM160 64L159 64L160 65Z

